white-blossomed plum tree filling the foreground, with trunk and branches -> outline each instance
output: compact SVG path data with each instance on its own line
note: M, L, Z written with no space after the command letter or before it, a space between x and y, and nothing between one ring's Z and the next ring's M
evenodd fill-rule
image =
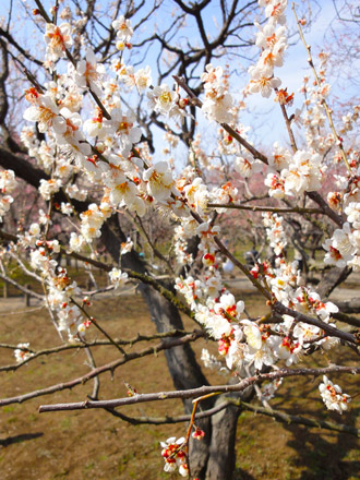
M346 139L356 128L359 106L346 112L344 124L335 125L327 56L313 59L303 21L292 7L314 82L304 79L302 108L291 113L295 95L283 87L277 72L288 49L292 13L287 0L223 1L216 7L215 25L209 22L214 4L207 0L119 0L106 8L96 0L69 0L49 9L41 0L32 3L20 8L28 25L41 32L43 49L22 45L12 4L0 25L0 277L29 292L11 278L5 268L10 259L43 284L44 295L33 295L46 304L49 327L56 328L63 348L86 348L92 364L82 379L3 398L0 405L73 387L140 357L130 356L101 319L92 316L91 303L101 289L89 268L97 267L108 273L107 291L128 281L139 284L176 389L139 394L129 387L128 398L103 399L95 382L91 399L43 405L40 411L104 408L117 416L120 406L180 398L189 427L185 436L161 442L165 470L189 479L231 478L244 400L257 394L261 408L278 418L268 401L283 379L295 375L323 375L321 397L338 413L351 399L327 375L359 374L356 362L326 364L325 357L316 357L315 367L309 368L302 358L340 348L359 355L360 321L348 313L358 313L360 304L349 311L346 303L328 300L351 271L360 268L359 154L353 136ZM158 26L169 8L171 25ZM239 92L232 65L241 57L248 57L249 80ZM28 81L26 107L13 106L25 120L20 127L10 117L7 96L15 82L12 72ZM288 144L274 139L267 155L262 145L251 143L251 133L240 122L252 95L274 96L289 135ZM216 142L201 133L204 125L214 130L213 137L218 134ZM179 143L183 148L176 153ZM38 209L14 229L7 218L11 208L19 208L13 195L20 179L37 190ZM268 251L249 269L226 240L229 237L233 247L235 231L249 236L251 218L253 231L261 230L252 238L261 235ZM151 230L154 226L161 232L158 237ZM315 230L317 241L310 244ZM145 260L137 235L151 251ZM100 248L110 260L100 259ZM316 289L308 269L302 272L291 260L292 248L303 259L322 251L321 275L313 275ZM87 265L95 284L92 301L59 262L59 253ZM226 285L221 266L228 261L262 296L261 316L251 317L247 299L237 299ZM180 312L196 329L184 332ZM86 340L92 329L117 348L118 361L95 364L91 349L96 341L89 347ZM223 385L208 382L190 347L204 337L218 349L218 357L203 350L204 367L225 373ZM0 370L21 374L22 365L45 355L28 343L12 348L16 364ZM256 410L251 405L247 408ZM317 424L359 435L350 427Z

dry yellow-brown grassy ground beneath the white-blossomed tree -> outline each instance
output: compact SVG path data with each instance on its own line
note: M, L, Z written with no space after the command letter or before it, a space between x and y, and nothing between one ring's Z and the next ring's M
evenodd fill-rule
M235 287L238 298L245 300L250 313L261 314L263 305L257 295L245 285ZM349 281L348 296L357 281ZM343 297L344 297L343 292ZM92 314L115 337L133 338L137 332L152 334L147 309L139 295L103 297L94 303ZM185 321L187 329L193 324ZM25 308L23 300L0 299L1 343L29 341L35 349L59 345L45 310L35 303ZM199 356L206 346L196 345ZM140 344L133 351L144 348ZM117 358L112 347L94 348L97 365ZM335 352L334 352L335 353ZM308 364L326 365L328 361L355 363L351 351L343 358L316 353ZM0 349L0 365L13 363L10 350ZM1 373L1 398L21 395L37 388L75 379L88 371L84 351L72 350L41 357L13 373ZM224 382L216 373L205 372L213 382ZM345 392L359 394L359 380L351 375L332 379L346 385ZM100 397L119 398L127 395L123 382L141 393L172 389L164 353L146 357L125 364L100 379ZM280 386L272 401L274 409L293 415L347 423L360 428L360 396L353 398L349 411L339 416L325 409L319 392L320 379L289 379ZM60 401L81 401L92 393L92 382L29 401L5 406L0 411L0 479L1 480L116 480L116 479L176 479L178 475L163 471L159 442L169 436L182 436L185 424L131 425L100 410L38 413L39 405ZM133 406L122 410L139 416L180 415L180 403L157 403ZM360 479L359 439L321 429L274 421L245 411L239 418L237 434L236 480L358 480ZM227 479L226 479L227 480Z

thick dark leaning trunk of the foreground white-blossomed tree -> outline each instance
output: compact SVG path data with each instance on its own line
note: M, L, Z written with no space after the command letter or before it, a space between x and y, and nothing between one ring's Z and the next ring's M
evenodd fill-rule
M104 226L101 238L108 251L118 261L120 243L125 240L125 236L121 231L120 226L116 224L115 218ZM122 265L139 273L146 273L144 263L134 251L123 256ZM167 288L169 288L168 285ZM151 320L155 323L157 332L163 333L175 328L183 328L179 311L172 303L148 285L141 284L140 291L148 305ZM165 357L177 389L208 385L195 359L194 351L189 344L166 350ZM248 397L249 392L247 392ZM216 403L225 401L225 398L223 395L217 400L214 397L207 398L201 403L201 409L209 409ZM192 400L184 400L183 404L185 412L191 413ZM204 430L205 437L202 441L191 441L190 444L192 478L199 478L199 480L227 480L232 478L236 463L235 441L239 413L240 408L229 406L212 418L196 421L196 427Z

